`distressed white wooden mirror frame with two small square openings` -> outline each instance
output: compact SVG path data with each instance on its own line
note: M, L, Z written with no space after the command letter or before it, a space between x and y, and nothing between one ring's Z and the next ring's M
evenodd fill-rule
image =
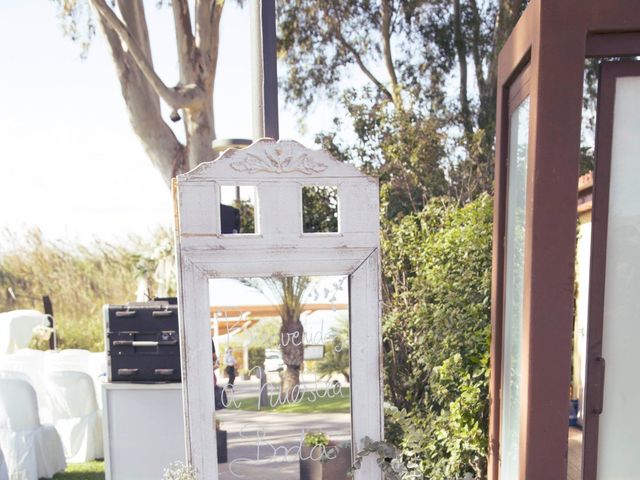
M220 186L257 190L256 233L220 233ZM303 233L302 187L338 190L337 233ZM377 179L297 142L263 139L227 150L174 179L182 392L187 462L217 480L209 287L211 278L348 275L352 451L382 439ZM370 456L360 480L381 480Z

